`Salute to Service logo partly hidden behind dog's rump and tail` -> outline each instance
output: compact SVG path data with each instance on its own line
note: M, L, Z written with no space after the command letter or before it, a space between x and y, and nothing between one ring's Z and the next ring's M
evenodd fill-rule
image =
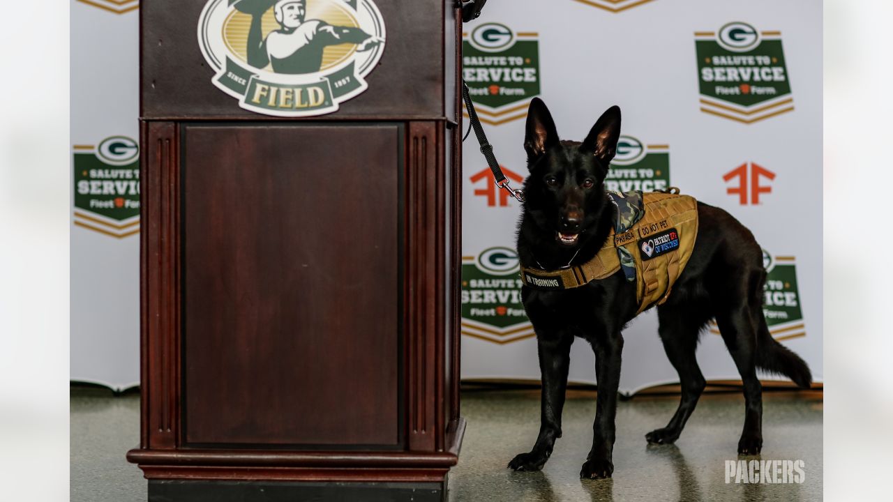
M797 264L794 256L773 256L763 251L766 284L763 292L763 315L773 339L786 340L806 336L800 294L797 289ZM715 322L710 330L719 334Z

